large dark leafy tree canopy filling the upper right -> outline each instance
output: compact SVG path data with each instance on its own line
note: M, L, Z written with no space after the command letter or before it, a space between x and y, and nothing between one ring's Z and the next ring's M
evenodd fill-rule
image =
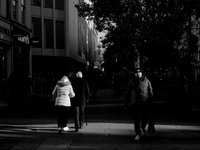
M105 61L118 56L121 68L131 67L140 56L141 67L146 66L153 72L175 64L177 49L174 44L188 31L189 2L91 0L91 5L81 2L75 6L79 16L93 20L98 31L107 31L102 41L106 48ZM199 3L193 1L194 6Z

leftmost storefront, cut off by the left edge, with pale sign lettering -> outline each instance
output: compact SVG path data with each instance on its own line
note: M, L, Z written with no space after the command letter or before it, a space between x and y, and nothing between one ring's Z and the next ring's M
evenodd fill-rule
M9 50L11 49L11 25L0 18L0 98L7 95Z

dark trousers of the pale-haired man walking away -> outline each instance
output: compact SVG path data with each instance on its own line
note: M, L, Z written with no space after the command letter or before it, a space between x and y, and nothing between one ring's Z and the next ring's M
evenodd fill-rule
M85 119L85 106L74 107L74 124L75 128L78 129L84 123Z

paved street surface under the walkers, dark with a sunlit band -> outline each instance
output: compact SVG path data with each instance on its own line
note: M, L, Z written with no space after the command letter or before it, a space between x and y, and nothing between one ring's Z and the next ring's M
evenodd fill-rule
M174 103L156 93L156 133L134 141L132 117L123 109L123 95L111 89L98 91L87 106L87 126L74 132L72 115L69 131L57 133L51 103L0 107L1 150L199 150L200 111ZM42 101L42 99L40 99ZM37 99L39 101L39 99Z

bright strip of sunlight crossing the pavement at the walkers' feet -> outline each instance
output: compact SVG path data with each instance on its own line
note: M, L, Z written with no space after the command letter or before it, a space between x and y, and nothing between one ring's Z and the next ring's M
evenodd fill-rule
M68 124L69 131L74 130L74 124ZM200 126L192 125L165 125L156 124L156 131L164 132L177 132L177 131L200 131ZM29 124L29 125L14 125L14 124L0 124L0 136L7 136L6 133L17 133L17 132L43 132L43 133L55 133L57 132L56 124ZM119 134L127 135L134 133L134 125L132 123L101 123L101 122L90 122L88 125L80 130L82 134ZM68 131L66 131L68 132ZM18 135L19 136L19 135Z

